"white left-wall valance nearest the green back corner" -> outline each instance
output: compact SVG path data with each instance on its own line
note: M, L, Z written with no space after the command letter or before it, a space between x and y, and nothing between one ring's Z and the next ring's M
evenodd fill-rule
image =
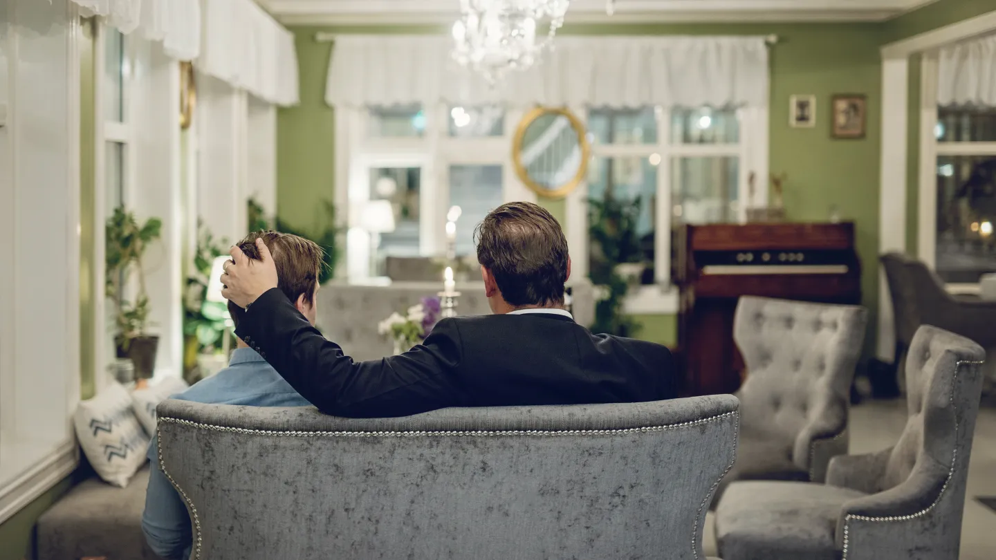
M298 57L294 34L253 0L204 3L198 70L274 105L296 105Z

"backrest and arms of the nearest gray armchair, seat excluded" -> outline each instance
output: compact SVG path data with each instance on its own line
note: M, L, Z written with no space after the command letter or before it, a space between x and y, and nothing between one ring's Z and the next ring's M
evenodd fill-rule
M984 358L966 338L930 326L916 332L898 442L830 464L829 484L869 494L841 512L837 539L846 560L958 557Z

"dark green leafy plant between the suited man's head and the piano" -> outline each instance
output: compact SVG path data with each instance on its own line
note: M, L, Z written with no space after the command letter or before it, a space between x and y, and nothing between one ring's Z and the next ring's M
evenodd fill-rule
M588 201L591 238L590 277L598 298L592 331L631 337L637 325L623 313L623 303L631 284L638 284L646 268L636 230L642 200L617 197L607 189L602 199Z

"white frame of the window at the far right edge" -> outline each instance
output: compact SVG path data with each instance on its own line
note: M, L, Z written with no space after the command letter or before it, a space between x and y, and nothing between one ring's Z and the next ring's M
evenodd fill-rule
M944 155L996 156L994 141L938 141L937 126L937 50L922 54L920 59L920 161L919 199L917 208L916 252L931 270L937 265L937 157ZM949 283L953 294L978 294L979 283Z

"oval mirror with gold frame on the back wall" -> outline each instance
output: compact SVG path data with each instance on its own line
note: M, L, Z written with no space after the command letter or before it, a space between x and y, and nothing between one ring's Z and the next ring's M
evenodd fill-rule
M565 196L588 172L591 147L585 127L566 109L536 108L523 117L512 142L515 172L529 188Z

